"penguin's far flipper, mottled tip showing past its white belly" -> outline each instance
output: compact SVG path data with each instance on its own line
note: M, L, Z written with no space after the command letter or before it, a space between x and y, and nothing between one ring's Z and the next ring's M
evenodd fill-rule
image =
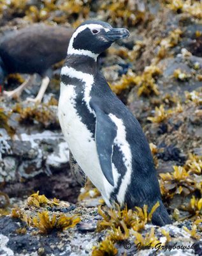
M73 154L69 150L69 165L70 165L70 170L75 176L77 182L82 185L82 187L85 186L86 182L86 175L83 172L82 168L78 165L78 163L75 160L75 157L73 157Z

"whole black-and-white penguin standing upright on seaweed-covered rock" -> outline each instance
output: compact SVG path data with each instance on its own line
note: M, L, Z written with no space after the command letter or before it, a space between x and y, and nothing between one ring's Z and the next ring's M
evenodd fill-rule
M59 122L80 182L87 175L109 207L115 202L129 208L147 204L150 211L159 201L152 222L162 226L171 220L147 139L97 68L97 56L127 36L127 29L94 20L75 30L61 70Z

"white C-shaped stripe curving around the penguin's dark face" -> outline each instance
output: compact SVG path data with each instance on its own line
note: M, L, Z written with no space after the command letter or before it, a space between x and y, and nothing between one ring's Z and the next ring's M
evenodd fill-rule
M92 31L93 29L96 30L100 30L100 29L105 29L106 32L110 31L110 29L105 28L103 26L101 26L100 24L85 24L83 26L78 27L78 29L76 29L75 33L73 33L73 35L71 36L71 39L69 41L69 47L68 47L68 54L78 54L78 55L85 55L85 56L89 56L91 58L94 58L94 60L97 60L97 56L99 54L95 54L94 52L88 51L88 50L82 50L82 49L75 49L73 47L73 42L74 39L76 38L76 36L81 33L83 30L85 30L86 28L89 28L90 31Z

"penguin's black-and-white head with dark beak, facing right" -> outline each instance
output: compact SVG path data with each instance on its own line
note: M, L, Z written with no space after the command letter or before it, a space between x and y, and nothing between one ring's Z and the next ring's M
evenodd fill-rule
M99 20L88 20L83 22L71 36L68 54L87 55L97 58L116 40L129 36L125 28L112 28L106 22Z

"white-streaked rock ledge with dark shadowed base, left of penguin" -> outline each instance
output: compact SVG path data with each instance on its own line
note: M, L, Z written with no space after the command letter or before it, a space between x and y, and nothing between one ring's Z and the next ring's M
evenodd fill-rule
M2 190L10 196L40 190L76 202L80 186L71 176L69 149L61 131L18 130L22 133L12 140L6 133L0 136L0 182L6 182Z

